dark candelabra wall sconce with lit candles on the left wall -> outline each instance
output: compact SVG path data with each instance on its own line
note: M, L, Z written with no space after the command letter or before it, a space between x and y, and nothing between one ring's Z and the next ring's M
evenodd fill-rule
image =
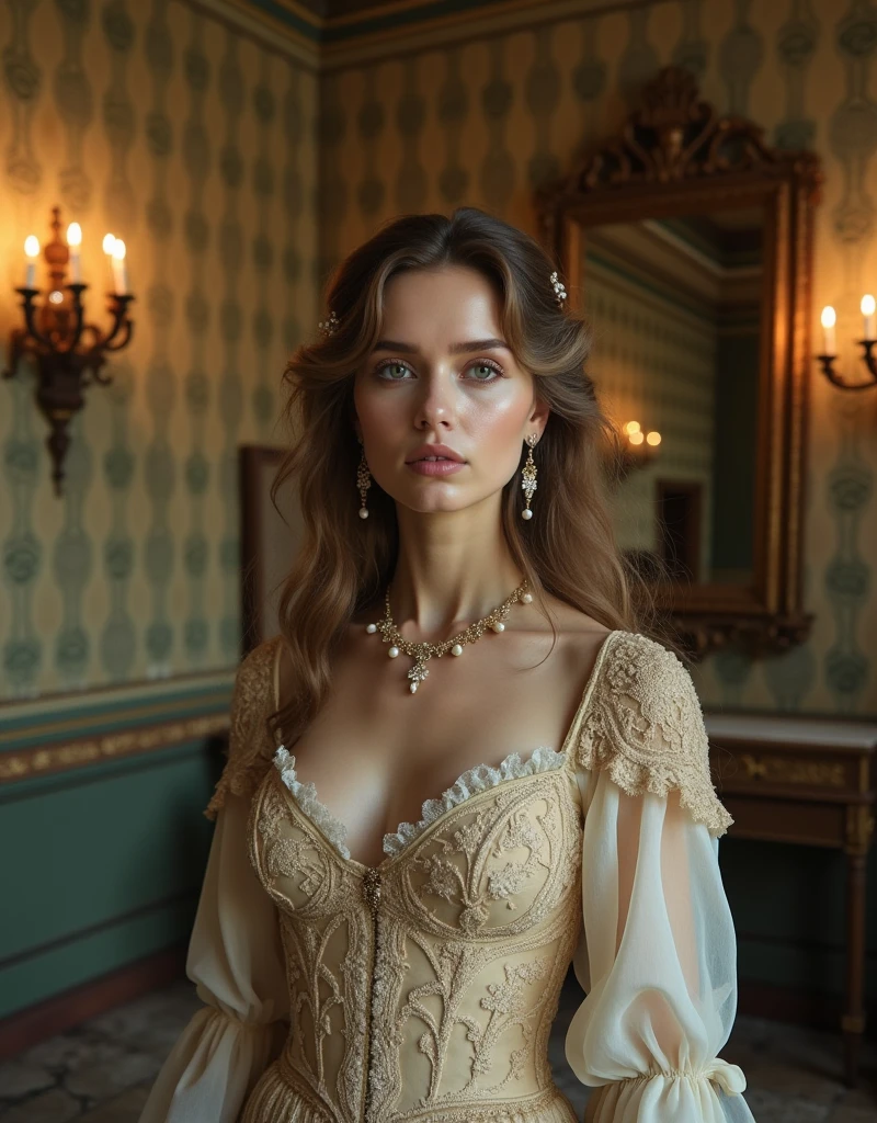
M25 241L27 257L25 284L16 292L21 296L24 328L13 328L9 341L9 367L4 378L15 376L25 356L33 358L37 369L36 401L49 423L46 445L52 456L52 478L55 494L62 494L64 458L70 447L67 426L85 404L82 391L92 382L106 386L112 382L102 373L108 355L128 346L133 323L128 305L134 295L128 292L125 243L108 234L103 250L110 259L115 292L108 293L111 326L103 332L85 322L82 294L89 287L82 282L80 248L82 230L79 222L67 227L66 241L61 238L61 208L52 208L53 238L46 244L44 257L48 266L49 289L37 305L40 290L36 287L36 263L39 240L30 235ZM67 268L70 282L66 282Z

